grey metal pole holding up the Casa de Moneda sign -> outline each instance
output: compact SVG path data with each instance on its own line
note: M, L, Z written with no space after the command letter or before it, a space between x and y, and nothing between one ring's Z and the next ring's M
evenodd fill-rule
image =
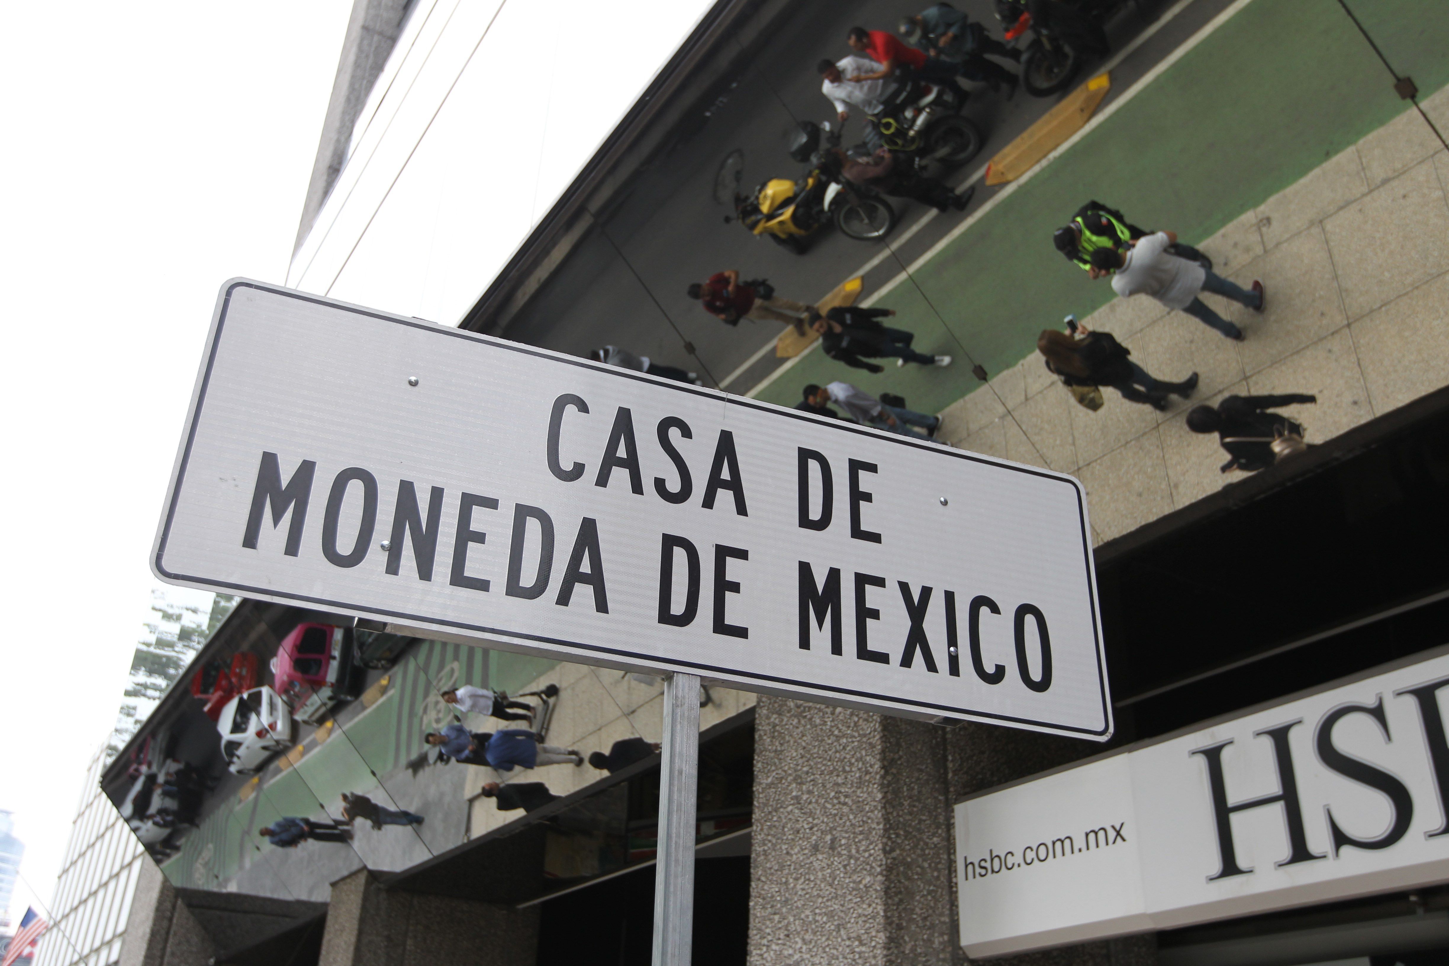
M700 679L696 675L675 673L664 682L661 757L653 966L690 966L700 770Z

